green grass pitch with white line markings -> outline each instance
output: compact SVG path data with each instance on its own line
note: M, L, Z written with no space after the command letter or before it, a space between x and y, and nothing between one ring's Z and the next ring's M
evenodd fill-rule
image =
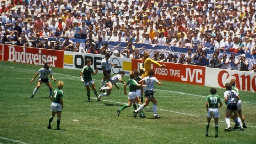
M256 95L254 92L240 91L242 110L247 127L244 131L226 128L226 105L220 108L218 138L214 138L214 120L210 124L209 137L206 130L205 100L210 87L188 85L177 82L163 82L155 86L158 100L158 114L161 119L153 118L152 103L144 108L146 118L134 118L133 107L123 110L118 117L117 108L127 103L128 96L113 88L111 95L97 102L91 90L91 102L87 102L85 86L80 82L80 70L52 68L53 76L64 82L64 109L60 128L56 120L52 130L48 130L50 100L48 87L42 84L34 98L30 98L36 81L30 83L34 74L42 66L0 61L0 143L256 143ZM102 73L93 76L96 88L100 86ZM37 77L38 79L38 77ZM127 76L123 80L126 81ZM53 89L57 82L50 80ZM224 99L225 89L217 89ZM231 121L231 126L234 122Z

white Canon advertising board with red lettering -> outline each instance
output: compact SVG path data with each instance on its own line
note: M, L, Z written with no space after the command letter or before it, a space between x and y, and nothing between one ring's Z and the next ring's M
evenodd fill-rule
M239 90L256 92L256 75L255 73L206 68L206 82L205 86L225 88L225 84L231 79L236 81L236 87Z

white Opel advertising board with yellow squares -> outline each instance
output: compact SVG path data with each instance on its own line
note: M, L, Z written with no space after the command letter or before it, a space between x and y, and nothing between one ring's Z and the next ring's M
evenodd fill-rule
M105 55L99 54L90 54L90 53L77 53L77 52L64 52L64 68L68 69L79 69L86 65L86 60L92 60L92 68L101 70L101 61L105 58ZM121 57L110 57L111 63L116 64L117 66L111 66L111 74L117 74L120 70L126 72L126 75L129 75L132 71L132 60L130 58L121 58Z

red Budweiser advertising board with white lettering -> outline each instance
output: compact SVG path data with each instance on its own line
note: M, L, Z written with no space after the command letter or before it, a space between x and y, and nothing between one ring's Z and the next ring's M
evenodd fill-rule
M64 52L41 48L28 48L14 45L4 45L4 61L44 65L49 62L50 66L63 68Z

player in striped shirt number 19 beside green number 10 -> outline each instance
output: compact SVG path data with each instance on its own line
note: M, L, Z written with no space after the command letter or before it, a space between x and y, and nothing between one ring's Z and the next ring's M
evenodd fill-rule
M225 98L226 105L228 105L226 109L226 115L225 115L226 124L227 124L227 128L225 129L225 131L231 129L230 120L229 120L229 116L231 113L234 113L235 121L237 121L238 124L240 125L240 130L244 130L244 128L242 127L241 120L240 118L238 118L238 113L237 113L236 103L240 98L238 94L234 90L232 90L232 85L230 83L226 83L225 86L227 91L224 92L224 98Z

